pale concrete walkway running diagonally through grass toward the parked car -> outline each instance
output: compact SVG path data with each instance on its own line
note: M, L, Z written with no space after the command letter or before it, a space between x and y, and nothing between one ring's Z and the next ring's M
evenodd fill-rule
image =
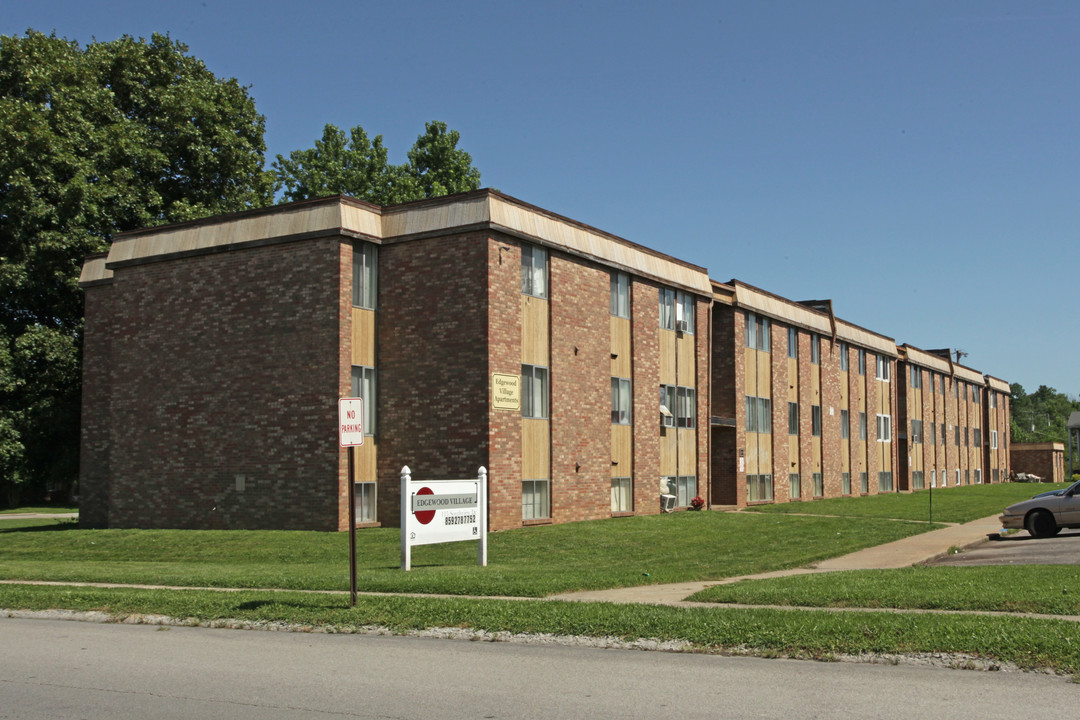
M889 570L907 568L932 560L949 552L953 547L971 547L986 542L990 535L1001 531L997 515L984 517L963 525L953 525L941 530L904 538L895 542L823 560L805 568L777 570L756 575L741 575L723 580L706 580L670 585L640 585L619 587L609 590L582 590L550 596L551 600L581 600L603 602L643 602L646 604L697 604L685 602L686 598L713 585L726 585L740 580L765 580L788 575L804 575L813 572L838 572L840 570Z

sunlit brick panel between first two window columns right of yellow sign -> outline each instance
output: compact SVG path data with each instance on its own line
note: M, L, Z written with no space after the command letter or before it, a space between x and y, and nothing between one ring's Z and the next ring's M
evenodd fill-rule
M550 268L551 517L553 522L609 517L610 273L556 253Z

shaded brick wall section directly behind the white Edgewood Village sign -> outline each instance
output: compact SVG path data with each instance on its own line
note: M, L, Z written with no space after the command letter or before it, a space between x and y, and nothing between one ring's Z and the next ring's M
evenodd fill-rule
M417 480L475 477L488 465L488 264L483 233L379 250L377 467L383 526L400 522L403 465ZM519 260L513 268L519 279ZM521 372L519 361L513 372ZM492 481L500 470L489 468Z

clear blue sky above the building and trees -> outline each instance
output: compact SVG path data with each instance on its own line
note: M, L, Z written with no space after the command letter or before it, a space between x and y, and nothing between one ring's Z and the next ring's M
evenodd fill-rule
M28 27L170 32L268 161L443 120L485 187L1080 394L1080 3L4 3Z

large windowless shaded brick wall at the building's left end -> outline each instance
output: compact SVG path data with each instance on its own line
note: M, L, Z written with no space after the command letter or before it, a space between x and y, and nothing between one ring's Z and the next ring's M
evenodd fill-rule
M110 526L337 529L340 256L334 237L116 270Z

